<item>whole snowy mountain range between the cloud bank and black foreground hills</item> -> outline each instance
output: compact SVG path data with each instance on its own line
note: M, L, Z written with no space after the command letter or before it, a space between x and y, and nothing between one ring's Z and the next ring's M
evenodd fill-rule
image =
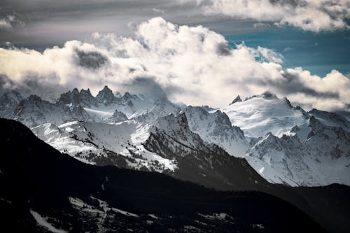
M271 92L244 101L238 96L214 109L122 96L107 86L96 97L75 88L55 103L12 91L3 94L0 109L1 117L24 123L57 150L90 164L177 177L189 151L215 151L230 160L244 158L270 183L350 185L350 122L336 113L304 111ZM156 143L155 135L167 136L167 145ZM199 160L196 167L207 166Z

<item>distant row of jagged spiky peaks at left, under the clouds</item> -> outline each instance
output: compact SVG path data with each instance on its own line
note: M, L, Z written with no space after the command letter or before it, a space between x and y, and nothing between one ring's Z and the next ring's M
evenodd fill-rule
M107 86L97 97L89 89L79 92L74 88L61 94L55 103L36 96L23 99L18 92L5 93L0 100L1 117L19 120L28 127L43 123L61 125L73 120L118 123L135 119L146 123L180 111L167 99L151 100L129 92L116 97Z

